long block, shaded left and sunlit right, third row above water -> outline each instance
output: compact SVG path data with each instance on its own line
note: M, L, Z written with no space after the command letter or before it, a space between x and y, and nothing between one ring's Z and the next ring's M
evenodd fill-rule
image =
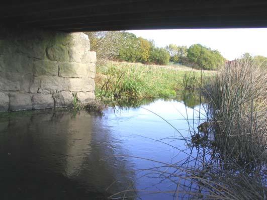
M87 77L87 64L64 62L59 64L60 77L85 78Z

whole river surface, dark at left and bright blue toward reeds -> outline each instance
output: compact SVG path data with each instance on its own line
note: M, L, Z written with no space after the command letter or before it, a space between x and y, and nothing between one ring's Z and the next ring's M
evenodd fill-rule
M189 130L196 130L204 108L192 95L186 96L187 105L182 99L116 106L103 115L68 110L1 114L1 199L106 199L127 189L112 198L173 199L176 184L141 169L196 154L183 137L191 138ZM205 121L205 115L200 117ZM161 170L173 172L166 166Z

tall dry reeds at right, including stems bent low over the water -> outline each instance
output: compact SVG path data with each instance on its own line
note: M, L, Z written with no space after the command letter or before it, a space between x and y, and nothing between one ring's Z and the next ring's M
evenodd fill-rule
M209 76L201 88L208 107L209 141L205 133L191 129L188 148L196 148L197 155L186 153L168 144L177 136L154 140L177 149L187 158L177 163L154 162L154 167L137 170L142 177L159 179L175 185L176 189L147 191L166 193L173 199L266 199L267 198L267 73L255 66L252 60L239 60L224 66L215 76ZM200 103L202 104L202 103ZM193 141L194 136L203 140ZM132 157L125 155L126 157ZM192 164L193 163L193 164ZM111 196L131 194L134 188ZM138 197L138 194L136 195Z

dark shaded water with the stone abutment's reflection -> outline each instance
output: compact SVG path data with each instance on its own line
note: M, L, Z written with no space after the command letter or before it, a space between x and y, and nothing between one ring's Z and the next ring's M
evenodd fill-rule
M100 118L84 112L27 114L1 120L4 199L102 199L114 180L120 182L110 187L112 193L133 179L131 163L113 156L126 152L119 142L114 145Z

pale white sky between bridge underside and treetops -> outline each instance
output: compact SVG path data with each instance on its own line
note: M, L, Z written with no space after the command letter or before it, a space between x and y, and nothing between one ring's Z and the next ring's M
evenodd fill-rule
M168 44L202 44L218 50L227 60L247 52L267 57L267 29L174 29L128 31L137 37L154 40L157 47Z

